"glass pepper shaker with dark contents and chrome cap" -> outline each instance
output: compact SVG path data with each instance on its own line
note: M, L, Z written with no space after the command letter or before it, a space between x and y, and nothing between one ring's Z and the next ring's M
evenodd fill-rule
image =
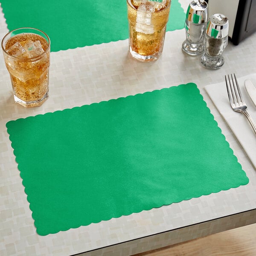
M207 23L204 38L204 53L201 64L209 69L218 69L223 66L222 56L228 42L228 19L222 14L214 14Z

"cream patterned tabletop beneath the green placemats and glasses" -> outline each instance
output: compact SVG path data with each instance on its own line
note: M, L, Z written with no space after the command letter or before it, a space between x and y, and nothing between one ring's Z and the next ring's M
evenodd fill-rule
M186 9L189 1L180 0L180 3ZM7 32L0 9L0 38ZM100 248L108 248L108 255L129 255L148 250L149 247L143 247L143 244L137 243L137 239L154 239L155 234L256 209L256 170L204 90L208 84L223 82L227 73L236 73L237 77L256 73L256 33L238 46L229 42L224 51L225 64L219 70L207 70L201 66L200 57L183 53L181 45L184 39L184 29L167 32L163 54L152 63L132 59L128 54L128 40L52 52L49 99L41 107L32 109L25 109L13 102L9 74L1 53L0 255L65 256L84 252L88 252L85 255L100 255L104 253L104 250L97 251ZM65 232L39 236L17 169L6 122L188 82L198 85L218 126L249 177L249 184ZM241 225L246 224L249 223L244 220ZM202 230L199 231L194 237L204 235ZM125 252L120 253L111 248L115 244L120 244L122 248L122 243L127 241L131 243Z

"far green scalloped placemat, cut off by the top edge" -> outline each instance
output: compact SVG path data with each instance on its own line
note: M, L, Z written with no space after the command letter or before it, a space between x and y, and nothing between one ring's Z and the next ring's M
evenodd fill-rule
M109 43L128 38L126 0L0 0L9 30L41 29L51 51ZM167 31L184 28L185 13L172 0ZM184 34L185 36L185 34Z

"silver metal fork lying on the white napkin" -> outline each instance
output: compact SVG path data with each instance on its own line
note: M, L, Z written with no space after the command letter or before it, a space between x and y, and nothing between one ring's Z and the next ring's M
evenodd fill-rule
M233 108L233 111L243 113L244 116L246 116L247 120L250 122L251 127L253 128L254 133L256 134L256 124L247 112L247 105L242 99L241 91L236 80L236 75L227 75L225 76L225 80L231 108Z

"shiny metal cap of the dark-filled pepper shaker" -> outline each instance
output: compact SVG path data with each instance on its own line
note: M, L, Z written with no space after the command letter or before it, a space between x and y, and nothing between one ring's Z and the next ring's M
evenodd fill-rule
M228 19L220 13L213 14L207 23L206 33L212 38L224 38L228 35Z

